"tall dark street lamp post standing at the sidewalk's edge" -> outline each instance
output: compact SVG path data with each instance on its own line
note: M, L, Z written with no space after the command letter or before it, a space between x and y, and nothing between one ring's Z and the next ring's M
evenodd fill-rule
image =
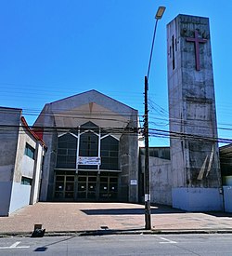
M165 7L159 7L156 13L156 23L153 33L153 39L151 44L151 50L149 55L149 62L148 62L148 74L145 76L144 85L145 85L145 111L144 111L144 138L145 138L145 169L144 169L144 186L145 186L145 229L151 229L151 222L150 222L150 185L149 185L149 142L148 142L148 77L149 77L149 70L150 64L152 60L152 53L153 47L155 42L156 36L156 28L158 24L158 20L161 20L161 17L165 11Z

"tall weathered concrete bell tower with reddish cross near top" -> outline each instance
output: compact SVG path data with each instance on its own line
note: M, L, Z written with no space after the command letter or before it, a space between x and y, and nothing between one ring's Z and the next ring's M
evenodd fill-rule
M173 207L222 210L209 19L167 25Z

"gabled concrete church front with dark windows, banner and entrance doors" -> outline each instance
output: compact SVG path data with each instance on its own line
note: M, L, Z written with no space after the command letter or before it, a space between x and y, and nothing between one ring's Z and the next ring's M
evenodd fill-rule
M45 104L33 128L48 148L42 201L137 201L135 109L90 90Z

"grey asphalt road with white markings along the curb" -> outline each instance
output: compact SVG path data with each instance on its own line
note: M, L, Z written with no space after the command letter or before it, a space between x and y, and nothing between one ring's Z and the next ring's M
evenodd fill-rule
M0 255L232 255L232 235L0 238Z

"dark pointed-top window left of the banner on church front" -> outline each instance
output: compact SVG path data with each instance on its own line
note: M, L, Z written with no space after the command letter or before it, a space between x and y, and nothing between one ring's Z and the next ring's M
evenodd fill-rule
M57 168L76 168L77 138L71 133L58 137Z

